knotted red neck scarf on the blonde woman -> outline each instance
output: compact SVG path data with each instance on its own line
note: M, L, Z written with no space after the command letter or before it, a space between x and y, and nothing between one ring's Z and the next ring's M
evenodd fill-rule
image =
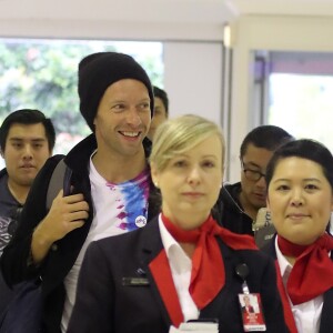
M175 241L196 244L189 291L200 310L218 295L225 282L223 259L215 236L234 250L258 250L253 238L232 233L220 226L212 216L194 230L182 230L163 214L162 221Z

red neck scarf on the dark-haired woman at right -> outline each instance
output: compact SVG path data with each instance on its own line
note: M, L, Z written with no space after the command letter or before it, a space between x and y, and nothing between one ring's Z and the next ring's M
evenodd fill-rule
M294 305L307 302L333 287L333 238L327 233L311 245L297 245L278 235L283 255L296 259L290 273L286 292Z

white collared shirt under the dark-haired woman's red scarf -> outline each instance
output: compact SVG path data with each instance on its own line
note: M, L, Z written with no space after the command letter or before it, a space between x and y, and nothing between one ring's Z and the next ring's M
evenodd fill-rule
M287 279L290 276L292 265L287 262L284 255L281 253L278 245L278 238L275 239L275 251L276 258L280 265L280 272L282 276L282 281L284 287L286 286ZM294 315L294 320L296 323L299 333L319 333L321 316L323 310L323 295L319 295L317 297L304 302L299 305L293 305L291 300L289 299L291 304L291 309Z

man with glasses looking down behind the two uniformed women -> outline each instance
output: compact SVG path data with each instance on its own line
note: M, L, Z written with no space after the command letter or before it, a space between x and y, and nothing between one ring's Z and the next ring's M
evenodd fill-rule
M290 140L293 137L275 125L261 125L248 133L240 149L241 181L225 184L221 191L224 228L235 233L254 234L252 225L258 212L266 206L268 163L274 150Z

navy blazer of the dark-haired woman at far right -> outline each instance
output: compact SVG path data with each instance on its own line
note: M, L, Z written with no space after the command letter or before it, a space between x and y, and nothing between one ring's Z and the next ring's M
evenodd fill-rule
M276 260L275 251L275 238L276 235L262 249L263 252L271 255ZM331 259L333 260L331 253ZM333 279L333 276L332 276ZM333 332L333 287L324 293L324 305L321 317L320 333L332 333Z

